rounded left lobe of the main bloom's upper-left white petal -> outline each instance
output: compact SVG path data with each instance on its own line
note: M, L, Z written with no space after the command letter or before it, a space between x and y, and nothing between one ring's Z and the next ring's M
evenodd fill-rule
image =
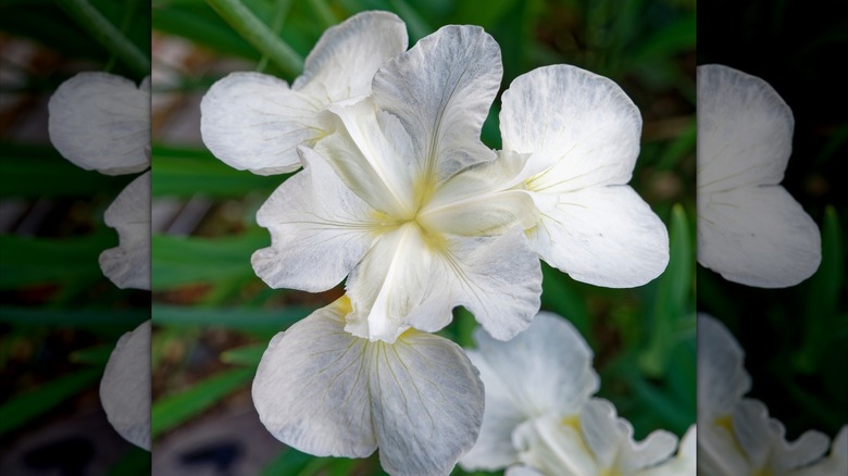
M232 73L212 85L200 103L200 133L210 151L239 171L280 174L300 166L298 146L325 133L326 103L260 73Z

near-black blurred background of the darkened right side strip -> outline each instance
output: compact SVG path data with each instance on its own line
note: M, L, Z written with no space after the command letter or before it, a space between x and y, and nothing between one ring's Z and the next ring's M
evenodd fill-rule
M795 116L783 186L819 225L822 264L788 289L758 289L697 268L698 310L722 321L747 353L750 397L786 425L833 438L848 423L848 95L833 61L848 48L848 3L788 0L701 2L698 64L724 64L759 76Z

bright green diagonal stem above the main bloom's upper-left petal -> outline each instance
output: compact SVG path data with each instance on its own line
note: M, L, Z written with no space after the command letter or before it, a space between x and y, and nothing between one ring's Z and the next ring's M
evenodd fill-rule
M303 59L238 0L207 0L245 40L290 76L303 68Z

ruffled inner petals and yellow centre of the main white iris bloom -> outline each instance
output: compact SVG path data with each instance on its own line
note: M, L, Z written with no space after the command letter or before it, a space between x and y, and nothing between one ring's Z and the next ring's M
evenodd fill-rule
M381 66L372 97L332 105L335 133L257 214L273 238L257 274L308 291L350 274L346 329L371 340L436 331L460 304L499 339L525 328L541 270L532 200L510 190L524 160L479 141L500 77L489 35L446 26Z

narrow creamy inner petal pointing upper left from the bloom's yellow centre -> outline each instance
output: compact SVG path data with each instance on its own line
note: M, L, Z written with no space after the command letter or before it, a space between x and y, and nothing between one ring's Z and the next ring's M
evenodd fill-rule
M412 141L397 117L379 112L365 99L331 108L336 133L316 151L325 156L347 186L391 218L415 211L419 170Z

